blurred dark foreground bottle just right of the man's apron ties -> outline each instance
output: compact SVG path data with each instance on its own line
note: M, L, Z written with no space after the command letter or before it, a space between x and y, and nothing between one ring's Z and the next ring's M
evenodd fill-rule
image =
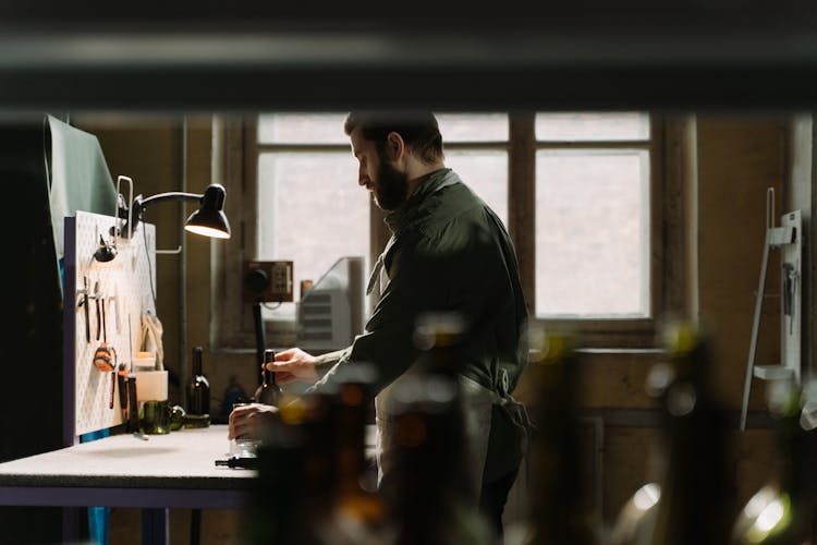
M527 545L593 545L598 524L584 475L577 395L580 359L573 335L531 329L528 377L536 401L528 452Z

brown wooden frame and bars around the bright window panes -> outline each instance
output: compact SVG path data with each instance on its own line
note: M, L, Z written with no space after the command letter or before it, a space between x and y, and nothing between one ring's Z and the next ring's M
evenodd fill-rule
M641 349L657 344L658 325L667 316L685 307L684 240L683 229L683 137L682 123L672 124L649 113L649 140L593 141L583 143L537 142L534 111L511 111L508 142L446 143L446 149L500 149L508 153L508 230L516 247L522 276L522 287L531 306L531 320L547 328L576 332L582 344L588 348ZM243 263L255 259L257 253L257 164L261 152L337 152L343 144L259 144L255 117L219 118L214 123L214 149L217 173L231 187L225 208L237 237L236 243L215 250L215 300L217 305L210 323L210 334L216 346L240 349L255 344L252 313L243 301ZM649 153L649 317L644 318L582 318L553 319L535 316L535 226L536 226L536 153L547 148L644 148ZM347 147L346 147L347 149ZM672 157L670 157L672 154ZM669 164L674 168L667 168ZM237 189L237 191L236 191ZM382 221L383 213L370 204L369 229L371 235L369 263L375 263L389 238ZM675 234L673 234L675 233ZM673 274L673 271L675 271ZM235 303L233 303L235 302ZM368 301L369 310L374 301ZM267 343L291 347L295 343L295 324L285 320L266 320Z

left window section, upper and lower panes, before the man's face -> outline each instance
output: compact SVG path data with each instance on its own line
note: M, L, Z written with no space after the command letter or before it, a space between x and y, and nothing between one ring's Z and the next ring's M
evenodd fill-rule
M258 119L256 258L293 262L295 301L301 281L317 281L340 257L370 254L369 195L357 185L343 119L343 113ZM295 304L263 313L292 320Z

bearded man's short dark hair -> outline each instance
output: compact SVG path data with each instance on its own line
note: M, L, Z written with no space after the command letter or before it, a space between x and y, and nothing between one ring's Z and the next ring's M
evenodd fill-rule
M428 112L371 112L353 111L346 116L343 131L352 135L355 129L361 130L364 140L374 141L379 152L386 146L386 136L395 132L426 164L442 159L442 135L437 118Z

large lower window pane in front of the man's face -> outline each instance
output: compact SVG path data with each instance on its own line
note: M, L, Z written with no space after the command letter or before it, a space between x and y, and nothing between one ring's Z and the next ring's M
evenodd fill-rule
M368 262L370 196L351 154L261 154L258 182L258 258L293 262L295 301L301 280L317 282L339 257Z

